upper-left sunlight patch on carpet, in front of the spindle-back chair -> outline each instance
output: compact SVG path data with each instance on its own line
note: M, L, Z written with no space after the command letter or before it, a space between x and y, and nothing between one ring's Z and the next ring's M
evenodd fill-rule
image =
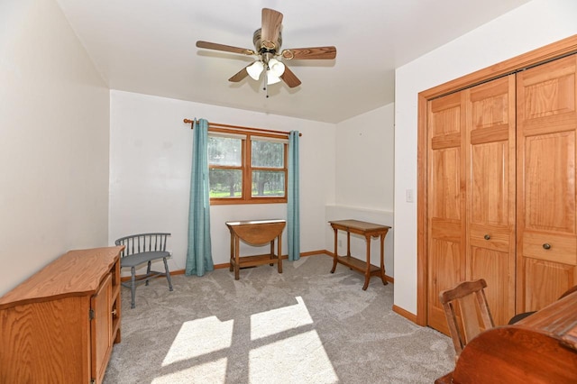
M183 323L162 361L162 366L230 348L233 325L233 320L222 322L216 316Z

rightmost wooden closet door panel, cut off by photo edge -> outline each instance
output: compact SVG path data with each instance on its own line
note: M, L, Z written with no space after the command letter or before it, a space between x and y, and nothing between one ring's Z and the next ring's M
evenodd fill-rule
M517 312L577 284L577 56L517 74Z

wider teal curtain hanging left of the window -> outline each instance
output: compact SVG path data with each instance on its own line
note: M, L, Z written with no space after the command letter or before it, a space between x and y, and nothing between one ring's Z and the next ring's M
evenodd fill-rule
M208 194L208 122L200 119L192 126L192 172L188 206L188 251L185 273L203 276L214 270L210 243L210 197Z

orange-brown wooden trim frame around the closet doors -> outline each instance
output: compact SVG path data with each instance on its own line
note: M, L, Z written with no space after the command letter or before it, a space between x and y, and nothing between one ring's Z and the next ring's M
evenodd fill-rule
M417 121L417 325L427 324L427 105L429 100L490 81L495 78L534 67L552 59L577 52L577 35L531 50L513 59L501 61L485 69L480 69L462 78L456 78L440 86L418 94Z

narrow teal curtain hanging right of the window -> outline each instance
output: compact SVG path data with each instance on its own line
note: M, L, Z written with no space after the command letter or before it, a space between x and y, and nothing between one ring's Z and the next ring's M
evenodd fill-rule
M287 237L289 260L300 259L300 199L298 181L298 131L289 133L289 196L287 204Z

